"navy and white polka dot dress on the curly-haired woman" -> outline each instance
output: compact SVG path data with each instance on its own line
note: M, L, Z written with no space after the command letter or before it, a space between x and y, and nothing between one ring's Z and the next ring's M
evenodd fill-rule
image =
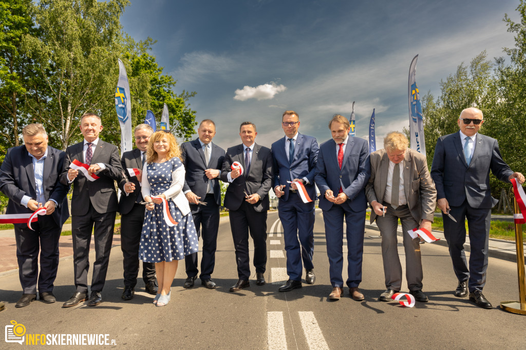
M171 184L171 173L183 167L179 158L164 163L148 163L148 183L151 195L165 192ZM198 237L191 213L183 217L174 201L168 201L171 216L177 225L169 227L163 215L163 204L146 210L140 238L139 259L145 262L182 260L198 250Z

